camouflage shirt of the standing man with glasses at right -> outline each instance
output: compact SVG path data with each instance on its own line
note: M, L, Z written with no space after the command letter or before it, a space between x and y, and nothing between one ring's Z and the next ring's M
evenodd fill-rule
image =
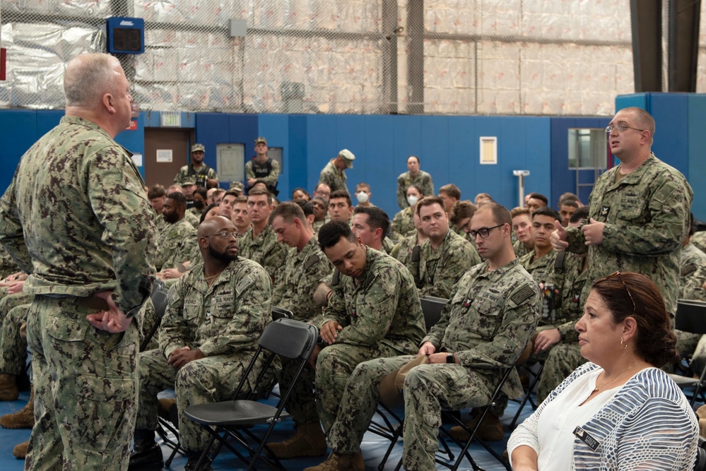
M659 287L667 311L674 314L693 191L678 170L654 154L616 183L620 167L602 174L589 196L589 216L606 223L603 243L587 247L580 229L567 227L567 250L588 250L587 290L616 270L642 273Z

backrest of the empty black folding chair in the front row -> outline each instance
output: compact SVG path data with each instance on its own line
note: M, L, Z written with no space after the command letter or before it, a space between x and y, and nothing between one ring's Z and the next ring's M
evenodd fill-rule
M291 359L307 359L314 351L319 329L312 324L281 318L267 325L258 345Z

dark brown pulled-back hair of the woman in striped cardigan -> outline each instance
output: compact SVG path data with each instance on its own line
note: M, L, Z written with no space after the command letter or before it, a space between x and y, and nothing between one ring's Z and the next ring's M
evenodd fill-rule
M619 323L629 316L635 318L635 353L645 362L660 368L664 364L678 361L676 336L669 326L669 313L659 288L652 280L639 273L616 272L597 280L592 290L611 311L613 323Z

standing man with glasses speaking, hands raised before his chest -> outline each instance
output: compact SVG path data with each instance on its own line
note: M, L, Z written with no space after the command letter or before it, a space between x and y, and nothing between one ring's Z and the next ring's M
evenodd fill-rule
M636 107L621 109L606 132L620 165L596 180L589 196L589 220L578 228L555 223L551 244L556 251L588 251L584 291L617 270L642 273L659 287L673 316L679 254L694 193L677 169L652 153L654 119L649 113Z

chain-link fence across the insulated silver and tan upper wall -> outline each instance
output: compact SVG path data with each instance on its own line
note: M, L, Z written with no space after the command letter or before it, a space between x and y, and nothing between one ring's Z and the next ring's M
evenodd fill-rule
M0 13L2 107L63 107L64 64L105 50L109 16L145 20L145 53L121 58L141 109L593 116L634 91L629 0L0 0Z

